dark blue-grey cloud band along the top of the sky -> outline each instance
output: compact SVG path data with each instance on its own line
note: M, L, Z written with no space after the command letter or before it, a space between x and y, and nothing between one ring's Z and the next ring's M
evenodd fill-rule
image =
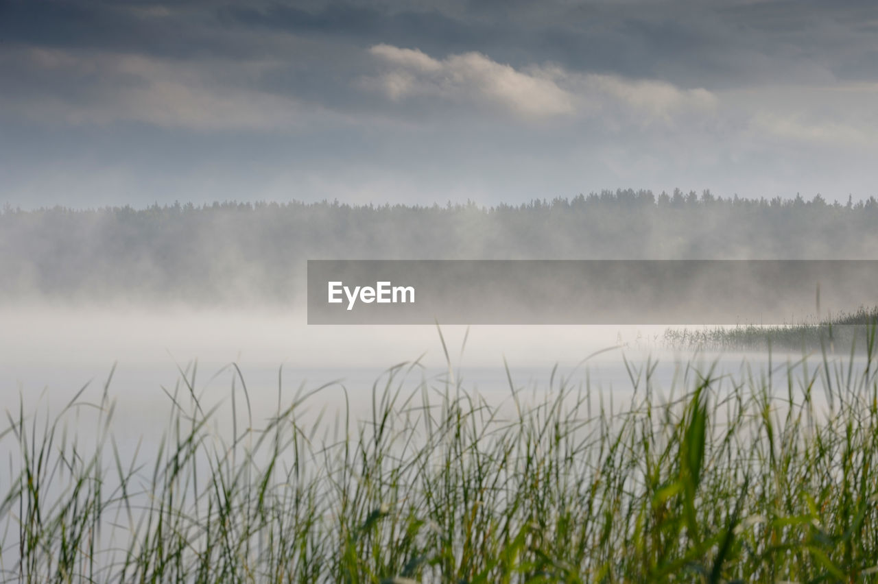
M875 4L853 0L0 3L7 46L294 60L284 44L289 35L419 48L436 57L479 51L516 67L551 61L686 87L820 75L875 80L876 26Z

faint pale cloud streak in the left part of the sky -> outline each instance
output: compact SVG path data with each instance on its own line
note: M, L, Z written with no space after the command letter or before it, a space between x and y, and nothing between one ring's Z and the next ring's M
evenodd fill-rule
M61 87L27 100L3 100L28 118L68 124L134 121L191 130L271 130L298 125L299 103L253 87L270 62L227 63L160 60L133 54L37 49L24 55L37 75L100 79L83 98ZM0 98L2 100L3 98Z

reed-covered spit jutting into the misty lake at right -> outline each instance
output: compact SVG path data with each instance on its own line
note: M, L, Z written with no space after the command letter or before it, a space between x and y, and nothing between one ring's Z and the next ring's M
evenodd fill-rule
M661 341L682 351L783 351L846 352L874 339L878 306L839 312L819 323L716 326L703 329L667 329Z

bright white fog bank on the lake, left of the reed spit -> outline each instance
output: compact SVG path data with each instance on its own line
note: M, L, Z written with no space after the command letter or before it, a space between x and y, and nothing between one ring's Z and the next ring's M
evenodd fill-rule
M185 368L196 360L199 379L204 381L232 362L245 375L270 372L272 392L282 366L291 384L322 383L353 374L365 389L386 367L401 361L420 358L428 370L447 369L435 326L308 326L302 311L31 306L0 311L0 319L5 330L15 331L0 339L7 397L19 383L27 397L44 385L53 393L63 393L90 379L101 384L113 363L117 373L112 386L121 395L133 393L126 381L136 384L136 393L150 385L156 391L160 383L173 385L179 377L177 366ZM662 330L479 326L467 332L464 326L448 326L442 334L455 367L497 369L505 383L504 358L510 367L548 372L555 363L574 366L620 338L631 347L645 348L648 338L657 338ZM136 376L126 377L126 372ZM363 372L368 372L365 378Z

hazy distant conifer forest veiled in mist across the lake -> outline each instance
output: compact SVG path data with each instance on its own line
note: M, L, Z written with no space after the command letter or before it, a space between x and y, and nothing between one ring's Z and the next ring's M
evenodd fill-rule
M878 201L619 189L492 207L154 204L0 212L0 298L290 303L309 259L878 259Z

